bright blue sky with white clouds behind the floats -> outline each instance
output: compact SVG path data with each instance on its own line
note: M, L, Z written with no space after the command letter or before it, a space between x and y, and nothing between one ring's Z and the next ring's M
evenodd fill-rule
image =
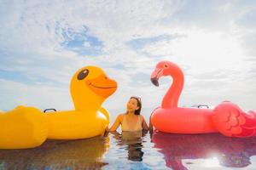
M125 112L141 96L148 115L172 84L150 82L161 60L179 65L179 106L230 100L256 111L256 2L250 0L0 1L0 110L72 110L69 82L96 65L118 82L103 106Z

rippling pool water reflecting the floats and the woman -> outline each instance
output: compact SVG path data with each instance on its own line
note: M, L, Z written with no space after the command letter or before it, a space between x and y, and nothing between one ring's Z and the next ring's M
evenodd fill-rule
M48 140L29 150L0 150L2 169L256 169L256 137L155 131Z

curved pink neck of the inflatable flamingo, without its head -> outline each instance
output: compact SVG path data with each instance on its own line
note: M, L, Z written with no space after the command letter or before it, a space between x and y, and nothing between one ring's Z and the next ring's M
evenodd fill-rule
M172 86L168 89L162 100L162 108L176 108L179 96L183 90L183 71L176 67L174 71L170 72L170 76L172 76Z

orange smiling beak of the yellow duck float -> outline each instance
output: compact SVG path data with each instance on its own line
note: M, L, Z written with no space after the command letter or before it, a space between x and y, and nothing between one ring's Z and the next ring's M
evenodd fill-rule
M90 88L90 90L103 98L108 98L108 96L113 94L117 89L117 82L111 80L103 74L95 79L86 81L85 84L88 88Z

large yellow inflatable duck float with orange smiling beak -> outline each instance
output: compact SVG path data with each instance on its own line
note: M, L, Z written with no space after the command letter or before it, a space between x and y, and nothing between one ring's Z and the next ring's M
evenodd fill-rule
M34 107L18 106L0 112L0 149L37 147L46 139L86 139L102 135L109 123L102 103L117 89L117 82L101 68L87 66L70 83L74 111L44 114Z

